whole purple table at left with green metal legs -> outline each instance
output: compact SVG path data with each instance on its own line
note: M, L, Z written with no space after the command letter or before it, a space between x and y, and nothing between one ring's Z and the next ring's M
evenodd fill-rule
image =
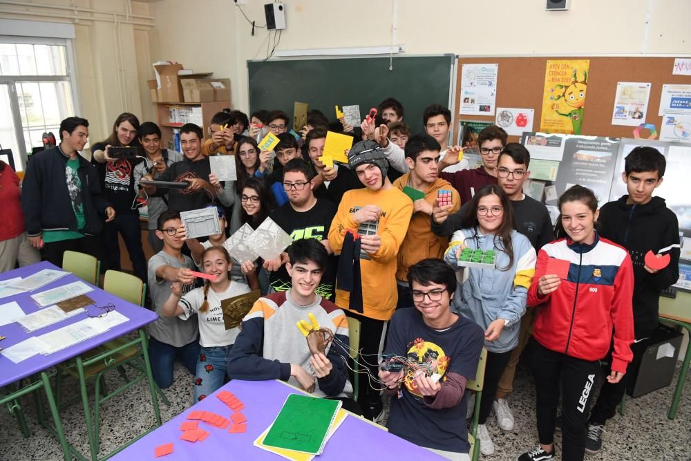
M32 264L27 267L22 267L21 269L15 269L11 270L9 272L4 272L3 274L0 274L0 281L6 280L6 279L12 279L17 276L21 277L26 277L31 274L34 274L35 272L38 272L39 270L43 269L54 269L54 270L61 270L59 267L56 267L53 264L50 264L46 261L37 263L37 264ZM22 310L26 314L30 314L32 312L35 312L39 310L39 307L36 305L36 303L30 298L30 295L35 294L37 292L43 292L46 290L50 290L51 288L56 288L61 285L66 285L67 283L72 283L75 281L79 281L81 279L77 278L77 276L73 274L69 274L68 276L64 276L61 279L50 283L44 287L39 288L38 290L35 290L33 292L26 292L22 294L17 294L12 297L6 297L0 299L0 304L4 303L9 303L10 301L17 301L17 303L21 306ZM86 282L85 282L86 283ZM91 285L93 286L93 285ZM97 337L93 337L90 339L87 339L86 341L82 341L80 343L75 344L74 346L70 346L68 348L65 348L63 350L59 350L53 354L50 355L34 355L33 357L30 357L26 360L23 360L19 362L19 364L15 364L12 362L10 359L4 357L3 355L0 355L0 370L2 370L2 373L0 373L0 387L7 386L8 384L16 383L19 382L21 379L24 379L26 377L30 377L32 375L41 375L41 381L40 382L35 382L33 384L30 384L29 386L19 386L20 389L19 391L16 391L15 393L12 393L6 397L3 397L0 400L0 404L5 403L5 402L16 402L17 397L20 395L25 395L26 393L35 391L37 388L44 387L44 390L46 391L46 397L48 399L48 404L50 406L51 413L53 413L53 420L55 422L55 430L53 428L50 428L47 424L44 424L47 429L53 431L57 438L60 440L61 446L63 453L65 455L66 460L71 459L70 451L72 451L75 455L77 455L77 458L80 459L85 459L80 453L78 453L73 446L70 446L64 437L64 433L62 431L62 426L59 420L59 415L57 412L57 407L55 406L55 399L53 397L53 391L52 388L50 387L50 381L48 379L48 375L46 373L46 370L52 366L56 366L58 364L61 364L64 361L67 361L68 359L72 359L73 357L77 357L77 368L79 369L79 375L80 375L80 384L82 388L82 404L84 404L84 413L85 413L85 418L86 418L86 427L88 431L88 436L89 436L89 444L91 446L91 459L95 460L97 459L97 435L93 434L92 428L91 428L91 411L88 408L88 397L86 395L86 385L84 383L84 364L90 364L92 359L89 359L87 361L82 361L81 355L84 352L87 352L88 350L92 350L93 348L97 346L101 346L102 344L105 344L108 341L111 341L113 339L116 339L118 337L121 337L122 335L125 335L126 333L132 332L134 330L139 330L140 331L140 337L139 339L135 339L132 341L130 344L127 346L131 345L138 345L141 344L142 347L142 352L144 355L144 361L146 363L146 368L147 370L146 373L149 377L149 388L151 390L151 397L153 399L153 404L154 404L154 411L155 411L155 416L156 420L158 422L157 426L160 426L161 420L160 420L160 413L158 411L158 399L156 397L156 389L153 384L153 379L151 377L151 366L149 364L149 355L147 353L147 348L146 348L146 335L144 331L141 329L143 326L145 326L148 323L151 323L155 321L155 319L158 318L158 316L155 314L155 312L151 312L150 310L144 309L138 305L134 305L132 303L129 303L127 301L124 301L123 299L120 299L118 297L115 297L113 294L109 294L101 290L100 288L94 287L95 290L92 292L89 292L87 294L88 297L93 299L96 303L97 306L100 305L106 305L107 303L111 302L115 305L115 310L117 312L120 312L123 314L125 317L129 319L129 321L126 321L124 323L121 323L120 325L117 325L110 330L102 333L101 335L98 335ZM95 310L95 306L88 307L88 310ZM17 344L21 341L24 341L25 339L28 339L29 337L32 336L39 336L39 335L44 335L47 332L57 330L58 328L62 328L66 325L69 325L70 323L75 323L77 321L83 320L86 318L86 313L82 314L77 314L73 317L70 317L68 319L65 319L63 321L59 321L57 323L54 323L51 326L47 326L46 328L41 328L40 330L36 330L31 333L27 333L26 331L21 328L19 323L9 323L8 325L5 326L0 326L0 336L5 336L6 339L2 340L2 346L3 348L8 348L12 346L13 344ZM104 357L107 357L108 355L111 355L115 350L108 352L106 355L100 355L97 357L97 359L103 359ZM41 413L41 412L39 412ZM43 422L42 422L43 423Z

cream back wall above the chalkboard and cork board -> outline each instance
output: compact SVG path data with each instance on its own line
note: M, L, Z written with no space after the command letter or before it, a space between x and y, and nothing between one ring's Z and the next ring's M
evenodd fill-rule
M263 25L264 3L242 8ZM233 0L190 4L151 3L154 59L229 77L234 107L247 110L246 62L265 57L267 30L251 37ZM688 0L572 0L566 12L545 11L545 0L285 0L285 10L278 50L387 45L395 34L410 55L691 53Z

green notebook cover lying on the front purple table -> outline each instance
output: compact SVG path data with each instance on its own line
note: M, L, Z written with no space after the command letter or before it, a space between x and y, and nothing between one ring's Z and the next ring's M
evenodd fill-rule
M321 455L340 400L291 394L269 428L264 444Z

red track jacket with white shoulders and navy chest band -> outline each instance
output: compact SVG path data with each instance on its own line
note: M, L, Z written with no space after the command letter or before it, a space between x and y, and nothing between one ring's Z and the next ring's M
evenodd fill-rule
M597 234L591 245L562 238L542 247L534 280L546 274L549 258L569 261L569 275L544 297L538 293L538 283L531 285L528 305L544 303L533 337L549 350L599 360L607 355L614 330L612 370L625 373L634 341L634 272L629 252Z

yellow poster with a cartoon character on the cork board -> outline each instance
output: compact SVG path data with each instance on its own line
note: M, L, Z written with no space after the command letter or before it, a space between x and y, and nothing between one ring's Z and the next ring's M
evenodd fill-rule
M581 134L589 66L589 59L547 61L540 131Z

